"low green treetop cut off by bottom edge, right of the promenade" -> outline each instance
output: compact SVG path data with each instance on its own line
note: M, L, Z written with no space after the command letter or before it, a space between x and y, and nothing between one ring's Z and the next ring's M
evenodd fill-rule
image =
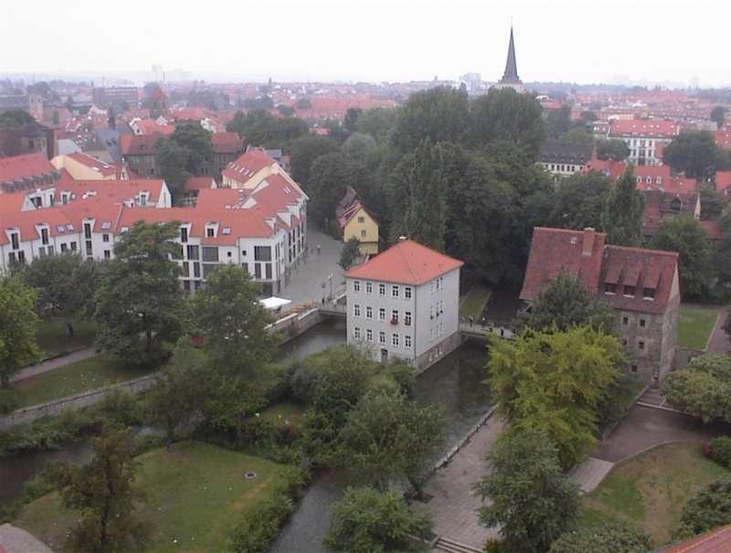
M548 553L647 553L652 544L647 534L630 526L604 523L599 528L567 532L548 549Z

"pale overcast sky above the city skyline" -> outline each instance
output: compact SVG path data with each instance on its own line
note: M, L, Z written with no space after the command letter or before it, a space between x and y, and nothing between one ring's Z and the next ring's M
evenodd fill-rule
M0 72L731 86L728 0L0 0ZM152 75L152 73L150 73Z

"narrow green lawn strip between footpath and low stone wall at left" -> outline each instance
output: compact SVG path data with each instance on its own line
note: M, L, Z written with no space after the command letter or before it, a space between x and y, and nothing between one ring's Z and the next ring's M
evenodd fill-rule
M127 367L118 358L101 355L48 371L10 385L16 390L18 409L66 398L90 389L142 377L149 369Z

